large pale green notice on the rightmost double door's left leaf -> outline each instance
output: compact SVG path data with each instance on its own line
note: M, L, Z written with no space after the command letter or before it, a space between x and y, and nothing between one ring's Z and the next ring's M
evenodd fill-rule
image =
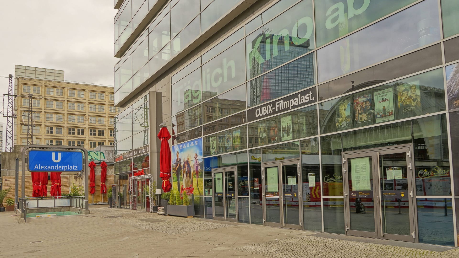
M370 158L351 158L352 191L371 191Z

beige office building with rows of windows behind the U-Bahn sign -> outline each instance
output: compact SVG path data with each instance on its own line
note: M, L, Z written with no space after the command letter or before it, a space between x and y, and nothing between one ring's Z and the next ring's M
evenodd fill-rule
M34 144L84 146L89 150L113 145L113 119L119 111L113 107L113 87L18 77L15 91L15 144L31 143L28 109L32 94Z

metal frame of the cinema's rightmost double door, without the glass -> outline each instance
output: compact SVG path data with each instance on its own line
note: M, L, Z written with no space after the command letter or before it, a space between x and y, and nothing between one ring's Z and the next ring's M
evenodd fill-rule
M408 192L409 192L409 224L410 224L410 232L411 235L404 236L404 235L395 235L395 234L384 234L382 233L382 209L381 209L381 180L379 163L380 163L380 155L386 155L390 153L406 153L406 163L407 163L407 178L408 178ZM365 155L366 154L366 155ZM380 238L380 239L388 239L388 240L396 240L396 241L408 241L408 242L419 242L418 238L418 223L417 223L417 210L416 210L416 180L415 180L415 167L414 167L414 146L413 144L401 144L395 146L387 146L387 147L380 147L380 148L372 148L366 150L358 150L358 151L345 151L341 154L342 157L342 169L343 169L343 186L344 186L344 217L346 223L346 235L348 235L349 231L356 231L356 233L362 232L362 235L355 235L355 236L364 236L370 233L368 237ZM372 157L372 165L373 165L373 197L374 201L376 202L374 206L378 206L378 211L375 208L375 233L373 232L365 232L365 231L357 231L357 230L350 230L350 206L349 206L349 199L350 197L347 194L349 184L348 182L348 174L347 172L347 159L353 157ZM375 177L377 176L377 178ZM375 180L378 180L377 182ZM375 191L375 185L377 186L377 192ZM377 197L377 198L376 198ZM352 232L351 232L352 233ZM371 234L373 233L373 234Z

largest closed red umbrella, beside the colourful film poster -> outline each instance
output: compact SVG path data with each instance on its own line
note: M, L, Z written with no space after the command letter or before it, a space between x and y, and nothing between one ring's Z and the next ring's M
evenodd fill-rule
M158 138L161 140L161 151L159 153L159 176L162 178L161 188L166 193L172 188L172 184L169 180L171 177L172 158L168 141L171 138L171 135L166 127L162 127L161 130L159 130Z

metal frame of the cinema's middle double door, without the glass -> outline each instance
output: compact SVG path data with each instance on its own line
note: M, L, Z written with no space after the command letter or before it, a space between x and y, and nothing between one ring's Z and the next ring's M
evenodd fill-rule
M297 164L297 185L298 185L298 224L285 224L284 218L284 191L279 191L279 206L280 206L280 223L277 222L267 222L266 221L266 182L264 178L265 168L272 168L278 167L278 180L279 180L279 190L283 190L283 179L282 179L282 166L284 165L292 165ZM301 196L302 192L302 173L301 173L301 160L299 158L288 159L288 160L281 160L281 161L270 161L270 162L262 162L261 164L261 181L262 181L262 209L263 209L263 225L266 226L274 226L274 227L281 227L281 228L291 228L291 229L300 229L302 230L303 224L303 199ZM300 183L301 182L301 183ZM301 187L300 187L301 184Z

